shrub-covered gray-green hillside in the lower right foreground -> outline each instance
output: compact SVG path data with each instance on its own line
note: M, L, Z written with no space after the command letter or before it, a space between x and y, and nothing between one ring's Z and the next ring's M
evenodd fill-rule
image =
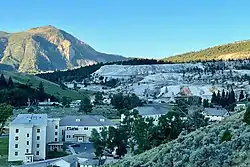
M221 123L181 134L136 156L127 156L109 167L249 167L250 125L242 121L244 111ZM231 136L222 141L223 134Z

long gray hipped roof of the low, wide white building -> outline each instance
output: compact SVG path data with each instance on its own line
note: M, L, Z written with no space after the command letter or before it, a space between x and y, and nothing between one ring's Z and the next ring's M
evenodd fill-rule
M66 116L60 126L114 126L115 124L101 115Z

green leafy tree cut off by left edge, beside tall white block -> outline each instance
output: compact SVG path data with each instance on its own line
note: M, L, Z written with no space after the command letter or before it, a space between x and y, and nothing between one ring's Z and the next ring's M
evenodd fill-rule
M6 104L6 103L1 103L0 104L0 135L3 133L3 128L5 126L5 123L7 119L13 114L13 108L11 105Z

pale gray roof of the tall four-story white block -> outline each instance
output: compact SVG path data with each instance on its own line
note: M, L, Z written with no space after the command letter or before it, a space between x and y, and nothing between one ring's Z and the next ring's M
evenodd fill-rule
M47 125L47 114L19 114L11 125Z

